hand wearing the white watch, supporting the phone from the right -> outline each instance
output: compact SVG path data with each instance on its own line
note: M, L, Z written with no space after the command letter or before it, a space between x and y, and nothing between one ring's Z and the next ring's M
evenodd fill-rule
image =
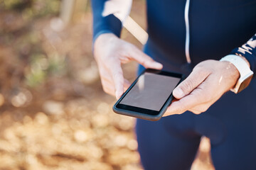
M171 103L164 116L191 111L200 114L229 91L240 74L230 62L206 60L194 67L193 72L173 91L177 101Z

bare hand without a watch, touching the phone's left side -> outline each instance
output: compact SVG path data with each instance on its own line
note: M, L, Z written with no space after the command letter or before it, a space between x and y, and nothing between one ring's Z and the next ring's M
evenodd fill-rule
M104 91L117 98L122 96L130 85L129 81L124 79L121 64L135 60L146 68L162 69L163 67L137 47L112 33L102 34L95 40L94 55Z

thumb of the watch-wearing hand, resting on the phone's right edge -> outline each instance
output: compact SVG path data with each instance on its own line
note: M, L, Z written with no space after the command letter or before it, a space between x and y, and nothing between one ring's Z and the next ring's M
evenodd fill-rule
M173 91L175 98L183 98L190 94L197 86L199 86L210 73L204 72L202 69L193 69L193 72L189 76L178 84Z

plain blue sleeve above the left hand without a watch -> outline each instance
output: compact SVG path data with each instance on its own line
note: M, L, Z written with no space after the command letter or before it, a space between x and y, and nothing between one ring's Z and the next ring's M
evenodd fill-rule
M109 16L102 16L105 1L107 0L92 0L92 14L93 14L93 42L102 33L114 33L120 36L122 30L121 21L113 14Z

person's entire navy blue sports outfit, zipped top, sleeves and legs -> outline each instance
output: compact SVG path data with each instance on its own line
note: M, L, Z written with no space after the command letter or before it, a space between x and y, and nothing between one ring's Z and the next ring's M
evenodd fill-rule
M94 40L102 33L119 36L122 28L113 14L102 16L106 1L92 0ZM185 74L203 60L238 53L256 73L256 0L191 0L191 64L185 52L188 1L146 1L149 40L144 52L164 69ZM201 115L186 112L157 122L137 120L136 132L146 170L190 169L202 136L210 138L215 169L256 169L256 79L239 94L224 94Z

